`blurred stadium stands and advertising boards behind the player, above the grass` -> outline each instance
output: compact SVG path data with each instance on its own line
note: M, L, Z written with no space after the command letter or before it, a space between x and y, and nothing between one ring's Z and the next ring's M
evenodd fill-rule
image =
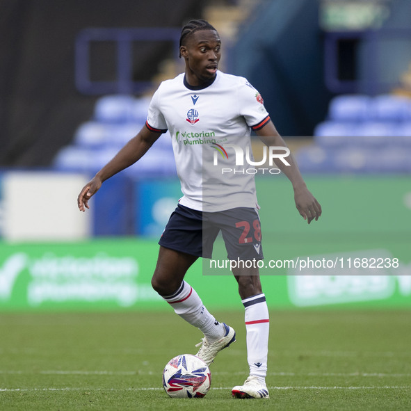
M165 308L150 279L181 196L170 136L86 213L76 197L184 70L191 18L216 27L220 70L261 92L323 206L307 226L289 182L258 176L266 259L399 261L267 270L268 305L410 307L410 15L408 0L0 0L0 309ZM231 277L201 274L209 306L239 305Z

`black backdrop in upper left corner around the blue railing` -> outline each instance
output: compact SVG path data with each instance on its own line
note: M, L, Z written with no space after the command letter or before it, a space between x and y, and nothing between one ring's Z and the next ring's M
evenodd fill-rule
M0 166L49 166L92 115L95 97L74 86L74 41L88 27L181 27L203 1L3 0L0 5ZM135 79L152 79L168 57L163 43L140 45ZM112 80L115 50L97 47L92 76Z

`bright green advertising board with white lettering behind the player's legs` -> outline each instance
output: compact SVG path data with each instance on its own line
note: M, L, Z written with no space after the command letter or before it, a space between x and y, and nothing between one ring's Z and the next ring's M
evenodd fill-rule
M267 243L266 243L267 244ZM278 244L277 244L278 245ZM357 250L360 245L360 249ZM277 248L277 261L304 252L302 243ZM356 268L319 271L277 269L261 277L268 307L316 308L411 308L409 254L393 249L369 250L351 244L355 251L322 253L321 257L392 257L401 270ZM366 249L366 254L362 249ZM113 239L79 243L0 245L0 311L44 310L148 310L168 309L152 290L150 280L156 264L156 241ZM311 256L314 258L314 256ZM204 260L206 261L206 260ZM209 261L209 260L207 260ZM373 272L372 272L373 271ZM240 307L236 282L231 275L202 275L200 261L186 280L213 309ZM295 275L297 273L297 275Z

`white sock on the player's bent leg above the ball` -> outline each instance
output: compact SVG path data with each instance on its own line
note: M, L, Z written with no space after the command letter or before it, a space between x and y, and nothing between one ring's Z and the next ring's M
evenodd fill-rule
M223 323L219 323L202 304L201 298L190 284L183 281L172 296L163 297L176 314L204 333L207 341L213 342L225 335Z

